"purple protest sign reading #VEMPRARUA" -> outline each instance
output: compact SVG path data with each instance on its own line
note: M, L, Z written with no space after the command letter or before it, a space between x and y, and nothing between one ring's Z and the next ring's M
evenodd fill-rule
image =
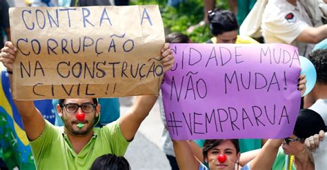
M161 85L175 140L285 138L299 111L297 48L172 44L175 66Z

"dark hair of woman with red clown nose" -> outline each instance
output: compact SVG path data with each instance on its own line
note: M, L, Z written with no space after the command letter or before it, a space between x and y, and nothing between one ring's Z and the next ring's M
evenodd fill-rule
M232 142L232 144L234 145L235 149L236 149L236 153L239 153L239 140L238 139L214 139L214 140L206 140L206 142L204 142L204 149L202 149L202 154L204 156L204 158L207 158L208 156L208 151L210 149L213 149L215 147L217 147L218 145L221 144L221 142L226 141L226 140L230 140L230 142Z

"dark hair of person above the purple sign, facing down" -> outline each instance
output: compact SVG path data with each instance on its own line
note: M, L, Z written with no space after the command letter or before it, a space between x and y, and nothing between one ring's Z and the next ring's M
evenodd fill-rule
M239 24L235 14L230 10L210 10L208 11L208 20L211 34L217 36L224 32L230 32L239 29Z

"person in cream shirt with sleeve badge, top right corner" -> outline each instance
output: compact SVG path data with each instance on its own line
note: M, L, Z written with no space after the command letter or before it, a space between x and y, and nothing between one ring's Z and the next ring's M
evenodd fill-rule
M298 0L270 0L262 15L261 31L266 43L286 43L308 56L315 43L327 38L327 25L314 27Z

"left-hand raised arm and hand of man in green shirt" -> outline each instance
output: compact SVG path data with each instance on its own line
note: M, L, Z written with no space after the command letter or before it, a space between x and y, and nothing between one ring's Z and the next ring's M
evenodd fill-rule
M7 67L7 72L10 78L10 88L12 88L12 67L14 60L16 59L15 53L17 48L12 45L10 41L7 41L5 46L1 49L0 61L5 67ZM21 119L23 120L24 129L29 140L37 139L43 132L45 126L45 120L43 116L34 106L32 100L14 100Z

